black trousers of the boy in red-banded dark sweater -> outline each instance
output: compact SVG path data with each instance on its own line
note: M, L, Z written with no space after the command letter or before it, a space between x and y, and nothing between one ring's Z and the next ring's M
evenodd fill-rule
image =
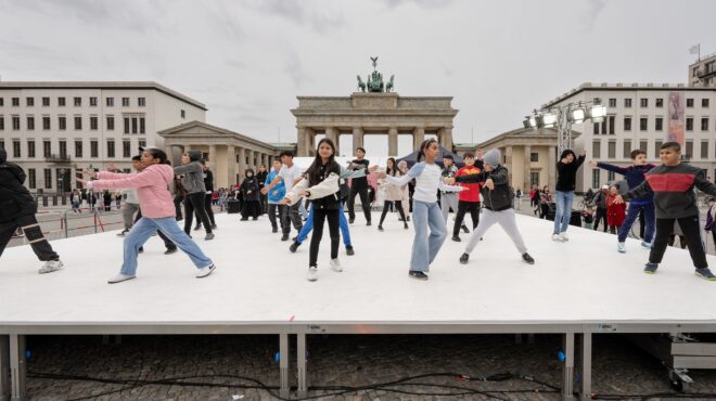
M679 219L656 219L656 237L649 254L650 263L661 263L668 245L668 237L674 233L674 220L679 221L679 227L686 237L689 255L696 269L707 268L706 253L701 241L699 228L699 216L682 217Z

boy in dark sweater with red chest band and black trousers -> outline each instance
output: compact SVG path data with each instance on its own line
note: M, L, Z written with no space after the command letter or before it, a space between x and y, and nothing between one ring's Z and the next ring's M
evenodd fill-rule
M696 268L696 276L716 281L716 275L708 270L706 253L701 242L699 208L693 191L695 186L701 192L715 196L716 185L706 180L706 176L700 168L679 161L681 145L677 142L664 143L659 152L659 157L663 164L650 170L644 182L615 199L617 203L623 203L644 197L652 191L654 193L656 238L654 238L649 254L644 273L656 273L676 220L683 231L691 260Z

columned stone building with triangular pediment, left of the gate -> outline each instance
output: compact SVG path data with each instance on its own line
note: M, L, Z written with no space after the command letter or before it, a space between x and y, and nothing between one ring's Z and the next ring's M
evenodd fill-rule
M202 121L168 128L158 135L175 165L181 164L181 154L187 151L202 152L214 173L216 187L241 183L246 169L256 172L260 165L270 169L272 157L283 150L294 151L293 144L269 144Z

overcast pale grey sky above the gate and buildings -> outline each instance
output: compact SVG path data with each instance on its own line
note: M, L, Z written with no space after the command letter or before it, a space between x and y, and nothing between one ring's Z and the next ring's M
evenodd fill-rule
M0 79L156 81L208 124L289 142L297 95L347 96L379 56L399 95L453 98L453 142L482 142L583 82L686 82L692 46L716 53L714 15L713 0L0 0Z

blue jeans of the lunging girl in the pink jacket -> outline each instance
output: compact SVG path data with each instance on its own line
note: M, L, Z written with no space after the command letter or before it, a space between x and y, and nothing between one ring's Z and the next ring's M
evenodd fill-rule
M125 260L122 263L122 274L135 275L137 273L139 247L144 245L146 240L157 230L161 230L172 243L177 244L177 247L189 256L197 269L213 264L212 259L204 255L196 243L179 228L174 217L164 217L161 219L142 217L131 227L129 234L125 237Z

